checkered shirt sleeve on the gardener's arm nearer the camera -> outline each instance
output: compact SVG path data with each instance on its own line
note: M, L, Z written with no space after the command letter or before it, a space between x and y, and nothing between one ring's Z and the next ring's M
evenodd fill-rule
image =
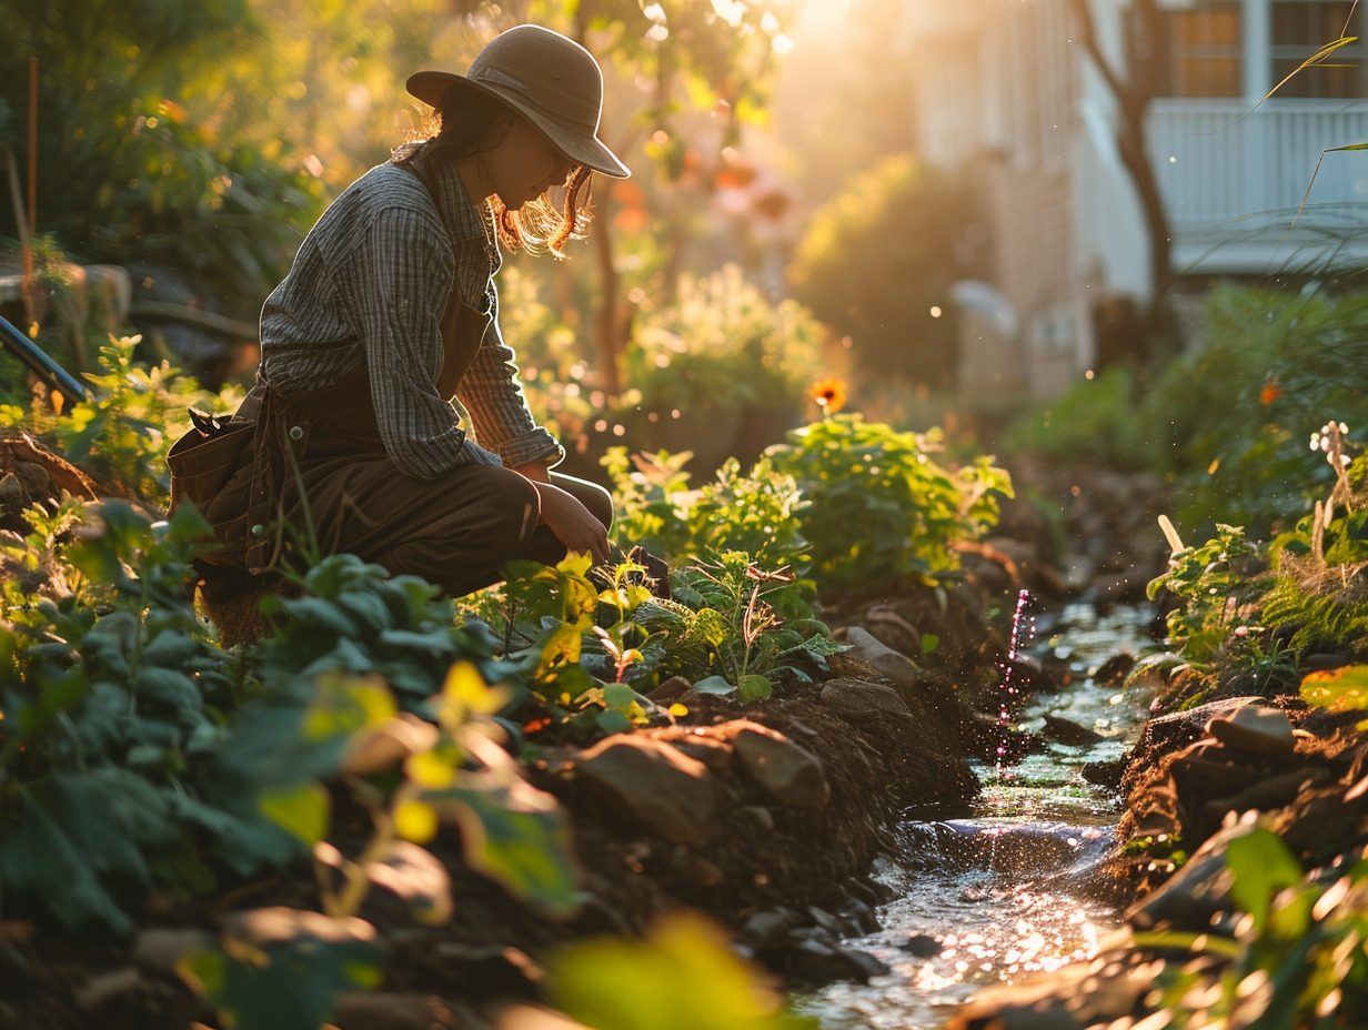
M395 205L375 213L342 276L350 320L365 346L380 439L398 469L415 479L472 462L499 464L466 440L460 414L436 390L451 275L440 222Z

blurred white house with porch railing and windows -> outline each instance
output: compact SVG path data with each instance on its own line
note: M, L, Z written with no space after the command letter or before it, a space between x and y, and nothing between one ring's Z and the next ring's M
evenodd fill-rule
M1155 1L1146 150L1179 301L1212 276L1368 264L1368 150L1321 160L1368 144L1368 11L1352 0ZM1124 79L1138 67L1137 4L1088 4ZM979 174L997 241L993 282L967 291L978 298L962 323L969 387L1057 393L1105 357L1116 313L1153 293L1118 100L1070 5L908 5L922 155ZM1342 36L1358 38L1283 82Z

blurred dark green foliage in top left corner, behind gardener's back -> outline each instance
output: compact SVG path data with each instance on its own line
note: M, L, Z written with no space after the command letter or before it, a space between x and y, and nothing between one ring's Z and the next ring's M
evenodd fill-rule
M252 5L22 7L0 53L0 148L29 149L37 57L38 227L82 261L175 268L226 313L254 317L289 269L293 227L321 211L323 185L304 153L239 131L259 94L234 68L269 52Z

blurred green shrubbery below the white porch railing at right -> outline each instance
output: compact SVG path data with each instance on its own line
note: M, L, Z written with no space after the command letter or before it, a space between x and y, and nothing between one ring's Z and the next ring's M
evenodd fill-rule
M1218 286L1202 341L1156 372L1112 368L1003 438L1005 451L1105 461L1167 476L1183 535L1218 524L1287 528L1334 479L1308 476L1306 439L1327 419L1368 425L1368 293Z

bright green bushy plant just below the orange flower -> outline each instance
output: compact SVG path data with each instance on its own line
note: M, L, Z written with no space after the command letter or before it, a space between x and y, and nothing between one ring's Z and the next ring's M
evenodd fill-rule
M948 544L992 527L997 495L1011 497L1012 487L988 457L956 469L937 464L930 455L940 440L938 430L902 432L836 414L770 449L773 469L808 501L798 521L819 585L934 579L959 568Z

